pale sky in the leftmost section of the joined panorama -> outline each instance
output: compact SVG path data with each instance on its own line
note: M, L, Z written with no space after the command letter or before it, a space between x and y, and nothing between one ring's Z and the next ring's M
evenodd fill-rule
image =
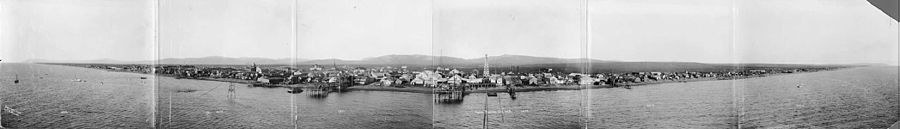
M0 59L152 59L145 0L0 1Z

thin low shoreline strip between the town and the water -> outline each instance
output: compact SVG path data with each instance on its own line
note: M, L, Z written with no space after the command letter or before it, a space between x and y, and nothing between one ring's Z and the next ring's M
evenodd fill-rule
M51 64L52 65L52 64ZM61 66L69 66L69 65L61 65ZM77 67L77 66L70 66ZM78 67L78 68L86 68L86 67ZM157 76L157 77L169 77L175 78L174 75L168 74L153 74L153 73L143 73L143 72L133 72L133 71L117 71L117 70L108 70L108 69L97 69L97 68L86 68L86 69L95 69L102 70L107 72L125 72L125 73L137 73L143 75ZM833 71L838 69L831 70L821 70L814 72L823 72L823 71ZM803 74L803 73L814 73L814 72L796 72L796 73L770 73L770 74L761 74L754 76L743 76L743 77L732 77L732 78L717 78L717 77L707 77L707 78L693 78L693 79L682 79L682 80L662 80L662 81L649 81L649 82L638 82L638 83L624 83L619 84L620 86L612 86L612 85L543 85L543 86L521 86L515 87L515 92L537 92L537 91L559 91L559 90L584 90L584 89L601 89L601 88L625 88L632 86L645 86L645 85L657 85L657 84L668 84L668 83L688 83L688 82L700 82L700 81L719 81L719 80L740 80L740 79L751 79L751 78L761 78L761 77L769 77L769 76L781 76L781 75L789 75L789 74ZM181 79L189 79L189 80L201 80L201 81L216 81L216 82L229 82L229 83L238 83L238 84L253 84L251 80L240 80L240 79L231 79L231 78L211 78L211 77L200 77L200 78L181 78ZM279 86L270 87L270 88L309 88L314 87L310 84L279 84ZM347 88L348 91L388 91L388 92L407 92L407 93L422 93L422 94L434 94L434 89L428 87L390 87L390 86L374 86L374 85L356 85L350 86ZM467 90L466 93L490 93L490 92L507 92L504 87L490 87L490 88L477 88L472 90Z

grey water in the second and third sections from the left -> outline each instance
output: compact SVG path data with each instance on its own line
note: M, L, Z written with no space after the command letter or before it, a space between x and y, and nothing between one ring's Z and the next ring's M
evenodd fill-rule
M284 88L160 78L161 128L431 128L431 95L354 91L311 97ZM194 92L178 92L178 90Z

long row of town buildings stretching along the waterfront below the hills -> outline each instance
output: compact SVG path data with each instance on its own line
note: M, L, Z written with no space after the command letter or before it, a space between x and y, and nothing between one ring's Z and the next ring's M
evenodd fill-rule
M490 71L465 72L455 68L411 70L401 67L360 67L313 65L301 69L292 66L252 65L87 65L116 71L171 75L176 78L223 78L267 84L334 83L349 80L357 85L438 87L439 84L479 86L543 86L543 85L616 85L664 80L696 78L730 79L771 73L803 72L818 69L751 69L727 72L629 72L629 73L561 73Z

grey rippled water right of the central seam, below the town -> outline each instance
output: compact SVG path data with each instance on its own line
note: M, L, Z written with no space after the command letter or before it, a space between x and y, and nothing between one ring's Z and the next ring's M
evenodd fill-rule
M467 96L435 105L436 128L887 128L900 120L897 67L742 80ZM798 87L799 86L799 87ZM487 101L488 122L484 122Z

